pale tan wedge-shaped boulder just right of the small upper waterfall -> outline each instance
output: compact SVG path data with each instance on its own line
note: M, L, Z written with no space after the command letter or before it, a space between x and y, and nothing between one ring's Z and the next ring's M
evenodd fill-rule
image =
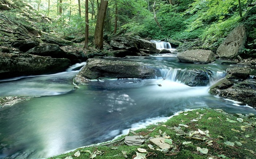
M206 64L214 61L214 53L210 50L188 50L177 55L180 62Z

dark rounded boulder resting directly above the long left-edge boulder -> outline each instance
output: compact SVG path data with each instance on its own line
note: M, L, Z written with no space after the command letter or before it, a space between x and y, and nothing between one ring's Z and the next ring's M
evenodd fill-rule
M46 44L34 47L27 51L26 53L39 55L39 56L51 56L53 58L63 58L66 56L66 53L55 44Z

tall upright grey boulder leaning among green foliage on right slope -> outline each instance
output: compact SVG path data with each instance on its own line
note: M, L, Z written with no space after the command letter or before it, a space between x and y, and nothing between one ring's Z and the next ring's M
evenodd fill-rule
M234 59L239 54L246 41L244 25L240 25L227 35L226 39L217 49L217 55L221 59Z

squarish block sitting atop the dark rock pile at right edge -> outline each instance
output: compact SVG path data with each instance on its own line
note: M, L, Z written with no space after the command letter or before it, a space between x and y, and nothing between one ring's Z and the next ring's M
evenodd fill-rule
M235 68L228 68L226 70L227 74L230 74L232 76L241 78L241 79L247 79L250 75L251 68L248 67L235 67Z

